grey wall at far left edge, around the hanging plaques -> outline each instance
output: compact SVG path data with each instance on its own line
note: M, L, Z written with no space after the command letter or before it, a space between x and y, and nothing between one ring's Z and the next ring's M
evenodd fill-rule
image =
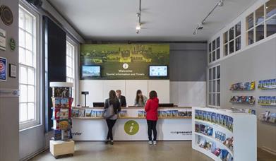
M14 51L9 47L9 40L13 38L18 45L18 0L0 0L0 6L5 5L11 8L13 23L5 25L0 20L0 28L6 30L6 51L0 50L0 57L7 59L8 64L18 66L18 46ZM7 72L8 72L7 64ZM18 68L17 68L18 71ZM0 81L1 88L18 89L17 78L9 78L7 81ZM19 158L19 99L18 97L0 96L0 160L17 161Z

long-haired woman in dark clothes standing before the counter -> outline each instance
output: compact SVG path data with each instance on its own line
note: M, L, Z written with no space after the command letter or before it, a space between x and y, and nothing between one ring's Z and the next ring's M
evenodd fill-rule
M121 105L120 105L119 100L116 97L116 93L114 90L110 90L109 98L107 100L105 100L105 102L104 102L104 109L107 109L109 106L113 106L114 115L112 117L109 117L108 119L106 119L108 132L107 132L107 140L105 141L105 143L108 143L110 141L110 144L113 145L112 129L113 129L113 126L118 118L118 114L121 111Z

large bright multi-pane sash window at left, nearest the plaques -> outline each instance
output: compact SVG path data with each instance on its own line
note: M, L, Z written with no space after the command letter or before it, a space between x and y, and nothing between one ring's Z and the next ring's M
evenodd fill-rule
M20 129L40 124L37 81L37 20L35 13L19 6L19 121Z

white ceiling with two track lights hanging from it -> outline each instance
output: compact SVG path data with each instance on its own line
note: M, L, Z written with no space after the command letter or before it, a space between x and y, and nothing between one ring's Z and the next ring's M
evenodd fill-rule
M85 39L103 41L205 41L257 0L142 0L142 27L136 34L139 0L48 0Z

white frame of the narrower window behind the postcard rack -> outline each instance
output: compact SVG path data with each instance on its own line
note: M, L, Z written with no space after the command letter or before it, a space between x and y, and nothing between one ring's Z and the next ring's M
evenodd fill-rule
M68 66L68 64L67 64L67 52L68 52L68 48L67 48L67 46L68 45L71 45L71 47L73 47L73 50L72 50L72 52L73 52L73 57L72 57L72 59L73 59L73 61L71 61L72 63L73 63L73 67L71 67L71 66ZM76 93L76 91L78 90L78 88L77 88L77 83L76 83L76 81L77 81L77 70L78 70L78 63L77 63L77 53L78 53L78 44L76 44L76 42L74 42L73 40L71 40L71 38L70 37L66 37L66 82L68 82L68 78L71 78L71 79L73 79L73 91L72 91L72 97L73 97L73 106L76 106L76 100L77 100L77 93ZM73 77L68 77L68 75L67 75L67 68L71 68L72 69L72 73L71 74L73 74ZM72 82L71 82L72 83Z

